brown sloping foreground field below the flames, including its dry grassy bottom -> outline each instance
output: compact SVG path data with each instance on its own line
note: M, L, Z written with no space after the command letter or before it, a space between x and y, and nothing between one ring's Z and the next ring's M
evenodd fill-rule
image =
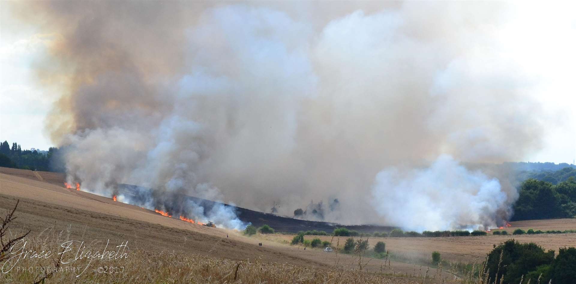
M249 267L262 268L257 277L261 277L262 281L267 279L269 283L291 282L289 278L279 278L286 274L285 270L290 270L291 275L300 279L296 282L300 283L323 283L321 278L317 278L320 274L342 279L342 283L352 283L348 281L350 279L358 279L356 283L412 283L419 275L436 275L435 281L440 277L452 278L445 271L436 271L434 274L432 268L380 259L362 260L362 271L358 271L359 259L354 256L328 254L319 249L304 250L276 241L245 237L234 230L189 224L154 211L115 202L111 198L69 190L36 179L31 171L11 170L10 173L16 174L0 173L0 209L6 212L20 200L17 218L10 224L10 234L16 236L31 230L26 249L41 251L41 248L50 247L56 253L59 249L57 244L68 240L84 241L88 247L86 249L94 250L103 249L107 240L109 247L128 242L131 253L127 259L105 263L112 267L122 266L124 272L103 276L97 273L97 266L90 266L92 271L82 274L79 279L84 280L79 283L134 282L134 277L139 275L136 272L143 270L168 271L162 272L159 277L154 276L156 272L151 273L146 276L144 283L164 283L166 279L171 279L169 283L234 282L228 273L235 270L238 263L244 264L238 268L236 281L249 283L253 282L249 277L256 277L246 271ZM260 242L263 247L257 245ZM155 260L155 264L147 269L151 260ZM81 261L79 259L77 263ZM22 265L51 264L48 260L39 263L36 259L23 259L18 263L18 266ZM200 273L200 270L203 272ZM356 271L355 274L352 271ZM342 274L344 272L356 278L348 278ZM275 274L275 277L270 276ZM191 275L194 277L190 278ZM202 275L207 278L202 278ZM386 280L391 275L396 275L393 282ZM411 275L416 276L411 278ZM0 283L31 283L35 276L37 273L2 274ZM66 277L69 276L70 273L60 273L54 275L52 281L67 283Z

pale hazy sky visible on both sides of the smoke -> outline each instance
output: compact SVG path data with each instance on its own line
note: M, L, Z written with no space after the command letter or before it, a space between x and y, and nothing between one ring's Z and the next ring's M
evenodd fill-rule
M494 29L494 40L508 39L503 56L520 63L533 78L526 96L535 97L545 109L541 118L549 131L545 145L524 161L572 163L576 158L573 11L574 6L523 3L509 14L505 25ZM0 13L0 139L18 142L23 149L48 149L54 144L44 131L44 118L60 94L37 83L34 63L47 55L59 31L38 33L35 26L16 20L6 2L0 2Z

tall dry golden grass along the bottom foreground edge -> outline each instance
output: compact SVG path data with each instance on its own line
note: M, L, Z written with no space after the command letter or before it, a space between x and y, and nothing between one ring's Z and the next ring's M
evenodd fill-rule
M70 240L70 231L44 230L27 238L27 248L37 251L61 251L60 244ZM90 243L88 249L102 249L101 243ZM54 253L55 259L58 255ZM3 274L0 283L32 283L44 274L41 270L22 271L17 267L52 267L54 259L21 259L17 266ZM79 277L78 271L66 267L89 268ZM115 267L114 272L98 272L98 267ZM118 268L116 268L118 267ZM121 268L123 267L123 268ZM40 269L40 268L39 268ZM71 268L70 268L71 269ZM431 278L429 275L427 278ZM300 267L286 263L264 263L257 260L217 259L179 252L146 251L131 248L126 259L100 261L79 259L73 265L62 264L46 283L423 283L422 277L392 277L360 270L334 267L331 270ZM434 283L431 279L428 283Z

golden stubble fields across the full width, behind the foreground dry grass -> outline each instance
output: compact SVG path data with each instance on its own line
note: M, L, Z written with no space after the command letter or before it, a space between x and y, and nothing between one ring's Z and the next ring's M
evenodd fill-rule
M325 253L320 249L304 250L301 246L288 245L293 235L259 234L255 237L245 237L233 230L188 224L137 206L114 202L105 196L67 190L59 185L62 179L62 175L55 173L0 168L0 209L12 209L16 200L20 199L18 218L13 222L11 232L31 230L31 238L40 236L47 239L50 234L51 238L58 238L55 236L58 234L66 235L69 239L86 241L95 248L105 244L108 239L111 244L128 241L136 254L149 253L154 256L158 253L161 255L172 253L176 258L185 256L192 259L207 257L209 261L230 260L228 263L222 262L226 267L250 261L261 263L263 266L272 265L272 268L275 264L285 264L321 271L357 271L361 264L363 271L404 276L423 275L426 270L433 270L420 264L411 264L422 263L418 260L429 259L433 251L440 252L443 259L453 262L473 262L475 259L481 262L493 245L509 238L516 238L521 242L535 242L544 248L555 250L559 247L576 245L576 234L439 238L370 237L371 246L377 241L384 241L386 249L399 256L400 258L395 259L400 261L363 259L361 262L357 257L343 253ZM576 220L522 221L513 222L512 225L507 229L509 233L516 228L565 230L576 229ZM346 240L345 237L320 238L332 241L333 247L336 247L338 241L342 246ZM259 242L264 244L263 247L257 245ZM142 265L139 263L138 269L142 269ZM134 263L132 266L134 269L137 267ZM193 271L191 267L178 269ZM431 274L433 272L429 272L429 275ZM452 277L446 271L439 274L444 279ZM225 274L222 274L222 277L224 277L222 279L230 278ZM411 282L410 278L406 277L397 279L406 283ZM9 283L2 279L0 282ZM435 281L427 283L433 282Z

